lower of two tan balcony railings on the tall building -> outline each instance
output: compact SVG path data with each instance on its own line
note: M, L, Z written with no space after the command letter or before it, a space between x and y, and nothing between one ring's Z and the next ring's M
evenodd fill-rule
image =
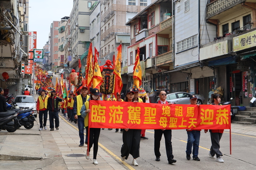
M128 26L111 26L109 29L107 29L101 36L101 41L106 41L107 38L110 37L110 35L113 35L114 33L130 33L130 27Z

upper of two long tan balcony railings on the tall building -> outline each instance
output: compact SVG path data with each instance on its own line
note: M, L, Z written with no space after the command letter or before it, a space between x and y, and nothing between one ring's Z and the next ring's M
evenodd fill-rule
M130 13L139 13L141 12L145 6L135 6L135 5L117 5L112 4L106 12L100 17L100 22L106 22L110 15L114 13L114 11L123 11Z

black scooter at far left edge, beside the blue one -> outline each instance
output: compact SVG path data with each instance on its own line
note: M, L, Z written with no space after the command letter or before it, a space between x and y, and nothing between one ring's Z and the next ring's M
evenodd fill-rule
M7 130L8 132L15 132L18 129L18 124L14 121L17 120L19 109L10 110L0 113L0 129Z

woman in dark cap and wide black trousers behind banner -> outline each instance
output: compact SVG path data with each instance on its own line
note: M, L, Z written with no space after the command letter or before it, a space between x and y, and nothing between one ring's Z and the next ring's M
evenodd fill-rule
M134 91L132 89L127 90L125 102L137 102L134 100ZM121 160L128 159L129 154L134 158L132 164L138 166L136 158L139 157L139 144L141 141L140 129L124 129L122 133L122 148L121 148Z

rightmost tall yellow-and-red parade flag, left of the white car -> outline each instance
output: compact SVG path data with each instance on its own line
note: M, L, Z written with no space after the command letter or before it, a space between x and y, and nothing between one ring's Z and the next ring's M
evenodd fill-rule
M135 64L134 64L134 86L135 88L139 88L141 86L141 64L139 61L139 48L137 49L137 55L135 58Z

